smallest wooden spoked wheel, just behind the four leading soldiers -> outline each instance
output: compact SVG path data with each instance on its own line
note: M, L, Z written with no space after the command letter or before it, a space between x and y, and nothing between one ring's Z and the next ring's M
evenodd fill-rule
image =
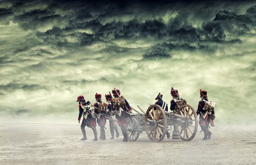
M126 130L129 141L136 141L139 137L139 124L135 118L131 118L126 123Z

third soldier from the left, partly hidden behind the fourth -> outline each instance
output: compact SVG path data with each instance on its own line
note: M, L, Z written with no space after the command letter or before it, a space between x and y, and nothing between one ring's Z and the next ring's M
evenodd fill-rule
M108 101L109 105L108 105L108 109L110 111L110 117L112 116L112 111L113 111L113 108L112 108L112 96L110 94L107 94L105 95L106 97L106 100ZM114 124L113 121L110 121L110 133L111 133L111 138L110 139L115 139L114 137L114 131L116 132L116 138L119 137L119 132L118 132L118 128L117 128L117 125Z

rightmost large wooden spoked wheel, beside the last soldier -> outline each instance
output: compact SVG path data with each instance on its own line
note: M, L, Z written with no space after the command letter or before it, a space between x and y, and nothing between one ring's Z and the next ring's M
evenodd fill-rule
M190 105L185 104L179 108L177 114L188 117L188 120L181 124L180 138L184 141L192 140L196 135L198 127L195 109Z

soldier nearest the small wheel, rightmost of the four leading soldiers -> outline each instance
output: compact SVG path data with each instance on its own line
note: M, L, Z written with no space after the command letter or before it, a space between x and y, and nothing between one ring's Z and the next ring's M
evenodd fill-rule
M120 96L120 90L119 89L113 89L112 93L114 95L114 98L119 98ZM113 105L112 105L113 107ZM127 117L129 116L129 113L132 112L131 107L129 106L128 101L125 99L125 106L121 107L123 109L123 111L121 111L121 115L116 115L117 121L118 121L118 125L121 128L122 134L124 136L123 142L127 142L128 141L128 135L127 135L127 130L125 127L125 124L127 122ZM119 112L119 108L114 109L117 112Z

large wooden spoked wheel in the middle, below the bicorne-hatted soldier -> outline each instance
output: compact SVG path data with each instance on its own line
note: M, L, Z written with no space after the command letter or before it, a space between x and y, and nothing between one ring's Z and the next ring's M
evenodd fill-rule
M151 141L160 142L165 138L167 121L162 107L151 105L147 108L145 115L145 130Z

